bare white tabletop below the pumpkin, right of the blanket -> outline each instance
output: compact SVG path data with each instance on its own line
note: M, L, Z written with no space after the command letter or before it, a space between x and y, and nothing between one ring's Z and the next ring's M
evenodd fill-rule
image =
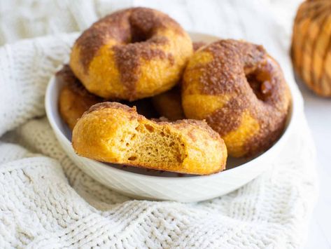
M320 184L318 203L311 218L306 248L331 248L331 98L311 93L298 83L317 149L317 170Z

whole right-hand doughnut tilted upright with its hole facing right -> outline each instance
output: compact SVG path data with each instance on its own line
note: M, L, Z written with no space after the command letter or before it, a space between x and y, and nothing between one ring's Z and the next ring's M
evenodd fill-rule
M220 134L230 156L255 156L283 132L290 91L262 46L220 40L190 58L182 105L186 117L205 119Z

